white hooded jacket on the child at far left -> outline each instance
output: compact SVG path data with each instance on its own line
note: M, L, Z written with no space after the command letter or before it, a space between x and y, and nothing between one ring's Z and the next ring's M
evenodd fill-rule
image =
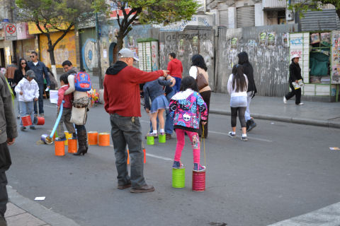
M28 81L26 78L21 79L14 90L19 97L19 101L31 102L34 98L39 97L39 86L34 79L32 81ZM19 94L21 91L23 95Z

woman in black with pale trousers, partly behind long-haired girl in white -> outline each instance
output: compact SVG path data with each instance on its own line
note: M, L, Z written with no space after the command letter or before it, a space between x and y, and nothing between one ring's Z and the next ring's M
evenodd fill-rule
M249 132L251 129L254 129L256 123L253 118L250 117L250 103L257 93L255 81L254 81L254 69L249 62L249 57L246 52L240 52L237 57L239 57L239 64L243 67L243 72L248 79L248 90L246 90L246 112L244 113L244 117L246 119L246 131Z

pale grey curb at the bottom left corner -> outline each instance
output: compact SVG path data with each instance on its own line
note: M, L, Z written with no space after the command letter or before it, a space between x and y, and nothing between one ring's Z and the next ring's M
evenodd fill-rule
M26 210L26 212L34 215L42 221L47 222L53 226L80 226L74 220L64 217L59 213L55 213L52 210L45 208L45 206L30 200L29 198L21 196L18 191L13 189L11 186L6 186L8 191L8 197L11 203Z

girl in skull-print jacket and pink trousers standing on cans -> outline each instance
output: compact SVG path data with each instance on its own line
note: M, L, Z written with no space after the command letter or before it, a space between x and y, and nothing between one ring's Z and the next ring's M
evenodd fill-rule
M193 170L204 171L205 166L200 165L200 138L198 130L200 120L206 124L208 109L203 98L198 93L196 80L193 77L183 78L179 93L176 93L170 101L171 117L174 119L177 144L174 157L175 169L183 167L181 153L185 145L184 133L188 135L193 148Z

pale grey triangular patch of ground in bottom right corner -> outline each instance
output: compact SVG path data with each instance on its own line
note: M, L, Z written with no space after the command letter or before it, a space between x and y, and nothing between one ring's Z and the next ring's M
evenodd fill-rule
M340 203L326 206L304 215L276 222L268 226L339 226Z

